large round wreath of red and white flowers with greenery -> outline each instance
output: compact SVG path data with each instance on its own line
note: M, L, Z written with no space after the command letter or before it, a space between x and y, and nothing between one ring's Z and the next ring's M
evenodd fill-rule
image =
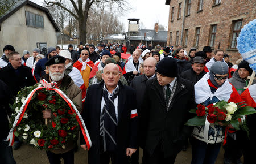
M40 84L39 84L40 85ZM79 123L76 113L71 110L64 99L55 91L42 88L31 95L26 111L22 113L22 106L28 94L38 85L24 88L18 93L11 108L14 114L11 122L22 117L18 126L14 128L14 135L38 149L65 149L67 141L76 141ZM51 124L44 123L42 110L50 109L53 114ZM13 126L13 124L11 125Z

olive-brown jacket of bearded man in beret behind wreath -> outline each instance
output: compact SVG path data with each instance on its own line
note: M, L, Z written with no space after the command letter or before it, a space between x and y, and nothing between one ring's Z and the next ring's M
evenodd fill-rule
M49 81L49 74L46 74L42 77L42 79L45 79L46 81ZM68 98L76 105L77 110L81 113L82 111L82 90L77 87L77 85L74 83L74 81L71 79L70 76L64 75L63 80L60 84L60 89L65 88L65 90L62 90ZM53 114L51 114L51 117L53 117ZM52 124L52 120L48 119L48 124ZM78 134L77 134L78 135ZM69 150L72 150L76 144L76 141L67 141L67 144L65 144L65 149L52 149L51 152L55 154L63 154L68 152Z

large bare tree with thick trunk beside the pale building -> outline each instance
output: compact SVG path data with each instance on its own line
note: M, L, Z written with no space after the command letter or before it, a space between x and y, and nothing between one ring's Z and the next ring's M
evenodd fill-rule
M71 2L71 6L66 7L65 3L67 1ZM86 42L86 25L88 21L88 13L93 4L97 4L98 6L108 3L109 5L116 5L121 10L127 9L126 0L44 0L47 6L59 6L63 8L65 11L69 12L79 23L79 37L80 41ZM73 10L75 12L73 12Z

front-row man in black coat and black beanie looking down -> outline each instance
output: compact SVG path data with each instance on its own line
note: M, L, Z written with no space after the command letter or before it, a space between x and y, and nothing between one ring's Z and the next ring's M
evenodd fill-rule
M141 133L145 163L174 163L192 128L184 126L195 109L191 81L178 76L174 58L163 58L156 65L157 78L146 83L141 108Z

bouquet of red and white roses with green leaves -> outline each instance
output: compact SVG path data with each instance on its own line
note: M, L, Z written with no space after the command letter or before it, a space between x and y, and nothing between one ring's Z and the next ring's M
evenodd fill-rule
M197 109L189 110L191 113L197 114L197 116L189 119L185 125L188 126L203 126L205 121L213 124L223 124L224 126L232 126L236 130L240 130L240 127L249 133L249 130L242 118L245 115L256 113L253 107L245 106L245 104L220 101L208 106L201 104L197 105Z

